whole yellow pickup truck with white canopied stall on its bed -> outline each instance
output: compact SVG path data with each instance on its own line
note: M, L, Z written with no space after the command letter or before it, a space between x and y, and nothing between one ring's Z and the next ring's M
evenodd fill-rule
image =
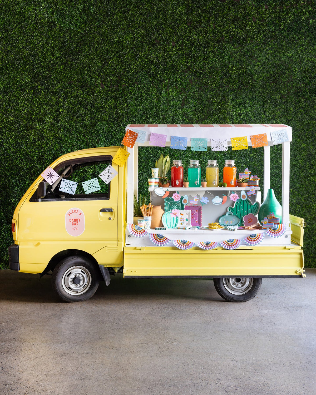
M248 301L259 291L263 277L305 277L303 260L303 218L289 214L290 199L290 141L292 129L287 125L128 125L143 135L143 141L133 148L124 147L130 155L123 166L112 162L119 147L100 147L70 152L50 165L57 174L50 185L40 175L17 205L12 220L14 244L9 246L9 267L24 273L52 272L52 286L57 295L67 302L90 298L100 280L107 285L110 275L123 273L124 278L213 278L214 286L227 301ZM267 235L267 230L218 229L209 231L206 225L224 215L234 202L229 198L225 205L202 205L203 223L192 229L148 229L145 237L134 237L127 224L134 224L133 198L138 196L138 149L152 145L150 136L166 136L166 146L172 136L187 137L190 147L192 137L207 139L212 147L220 136L231 145L231 138L246 136L249 145L253 135L265 134L268 145L263 147L263 194L270 188L271 132L286 131L282 154L282 224L286 231L281 237ZM213 140L212 140L213 139ZM157 149L153 146L152 149ZM228 148L230 150L230 148ZM260 148L262 149L262 148ZM205 155L212 156L208 150ZM224 152L227 156L228 152ZM192 156L194 151L192 151ZM232 156L233 152L229 152ZM72 194L61 188L61 182L80 182L98 177L109 164L117 175L108 184L100 181L101 189L86 194L82 188ZM148 176L150 167L148 164ZM241 169L240 169L241 170ZM281 173L281 172L280 172ZM64 181L62 181L64 180ZM250 187L220 188L229 196L240 194ZM261 203L260 187L249 199ZM218 195L217 187L167 188L188 196ZM63 192L62 192L63 191ZM153 204L164 201L149 188ZM171 196L170 195L170 196ZM209 199L211 200L211 199ZM219 211L218 211L219 210ZM260 245L248 245L245 238L253 233L263 233ZM170 243L154 245L150 235L162 234ZM182 240L194 246L181 250L172 241ZM221 246L224 240L239 240L234 250ZM216 243L216 248L203 250L199 241Z

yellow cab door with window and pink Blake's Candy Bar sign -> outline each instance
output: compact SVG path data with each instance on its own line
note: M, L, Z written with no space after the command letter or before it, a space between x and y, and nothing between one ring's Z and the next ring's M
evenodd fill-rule
M37 191L19 211L20 263L48 263L57 252L69 249L94 254L118 245L118 179L105 184L98 175L111 163L109 155L68 159L55 167L67 181L77 182L75 194L61 192L60 182ZM112 164L119 171L117 165ZM66 171L68 169L68 171ZM81 182L97 178L101 189L85 194ZM21 265L20 265L21 266Z

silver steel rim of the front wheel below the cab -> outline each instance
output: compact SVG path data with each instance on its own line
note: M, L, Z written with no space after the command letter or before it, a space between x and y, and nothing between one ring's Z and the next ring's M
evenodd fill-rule
M62 288L70 295L81 295L91 285L90 272L83 266L73 266L62 276Z

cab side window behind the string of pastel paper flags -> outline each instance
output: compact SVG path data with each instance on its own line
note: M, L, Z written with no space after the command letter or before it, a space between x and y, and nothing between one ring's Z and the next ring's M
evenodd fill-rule
M99 157L100 158L100 157ZM81 200L81 199L109 199L110 198L110 189L111 182L109 184L105 184L105 182L98 177L102 171L109 166L111 163L111 156L103 156L102 159L105 160L96 160L95 158L89 158L90 162L87 162L87 158L85 159L75 159L73 161L66 161L55 167L55 171L62 176L66 181L77 182L77 188L75 190L75 194L70 192L62 192L59 190L62 179L56 181L53 185L49 185L46 183L46 196L41 199L52 200L52 199L67 199L67 200ZM93 160L94 159L94 160ZM109 159L109 160L106 160ZM89 181L91 179L96 178L100 185L99 190L93 190L92 192L86 194L83 188L82 182ZM36 192L37 193L37 192ZM31 200L36 199L36 193L32 196Z

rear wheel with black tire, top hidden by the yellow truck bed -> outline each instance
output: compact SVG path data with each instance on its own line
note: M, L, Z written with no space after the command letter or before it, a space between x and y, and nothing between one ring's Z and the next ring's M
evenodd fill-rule
M228 302L248 302L259 292L262 278L226 277L214 278L213 282L218 294Z

